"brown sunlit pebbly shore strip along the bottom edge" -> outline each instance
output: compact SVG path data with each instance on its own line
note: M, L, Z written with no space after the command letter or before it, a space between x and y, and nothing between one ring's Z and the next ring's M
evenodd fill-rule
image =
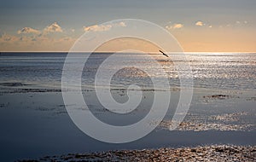
M212 145L195 148L74 153L21 161L256 161L256 146Z

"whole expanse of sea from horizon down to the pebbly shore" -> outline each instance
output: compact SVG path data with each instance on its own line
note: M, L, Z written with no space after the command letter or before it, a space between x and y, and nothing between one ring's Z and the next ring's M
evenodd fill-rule
M83 55L89 54L81 54L81 58ZM112 113L96 99L96 72L110 55L94 53L85 63L81 72L84 101L97 119L123 126L134 124L148 114L156 91L163 95L171 92L165 118L152 132L137 141L122 144L100 142L84 134L69 117L61 95L61 76L67 53L1 53L0 159L13 161L114 149L256 144L256 54L186 53L186 60L178 57L176 62L191 67L194 93L183 123L172 131L168 128L181 90L179 73L172 61L176 55L166 58L152 54L166 72L168 89L155 89L152 78L157 78L161 84L163 76L154 62L145 60L142 55L132 55L138 62L137 68L117 70L121 66L117 61L108 66L109 69L103 69L107 72L116 70L116 73L110 84L97 86L102 89L110 86L113 99L120 103L129 100L129 85L141 87L143 99L137 109L128 114ZM148 76L139 67L152 71L153 75Z

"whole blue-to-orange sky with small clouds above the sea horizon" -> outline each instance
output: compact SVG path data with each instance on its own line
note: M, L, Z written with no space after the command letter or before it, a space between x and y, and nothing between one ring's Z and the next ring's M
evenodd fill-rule
M68 51L84 32L100 32L104 22L140 19L166 28L185 52L256 52L255 0L0 3L0 51Z

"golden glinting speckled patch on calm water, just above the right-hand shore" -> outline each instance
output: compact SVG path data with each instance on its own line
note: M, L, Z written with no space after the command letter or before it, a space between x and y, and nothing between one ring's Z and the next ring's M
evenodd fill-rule
M247 123L242 119L246 118L247 112L241 113L225 113L212 116L202 116L196 114L188 114L186 119L179 124L176 130L193 130L193 131L252 131L255 130L256 124ZM156 123L152 121L150 124ZM160 123L160 128L168 130L172 120L163 120Z

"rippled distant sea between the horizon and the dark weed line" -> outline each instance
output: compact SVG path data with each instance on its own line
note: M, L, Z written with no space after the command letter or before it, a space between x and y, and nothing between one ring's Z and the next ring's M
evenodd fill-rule
M88 55L88 54L84 54ZM110 54L97 53L90 55L83 72L83 85L94 84L98 66ZM125 55L125 54L122 54ZM22 82L60 88L61 72L67 54L65 53L2 53L0 55L0 82ZM170 84L179 86L178 75L172 61L159 55L155 57L168 74ZM154 70L150 62L143 61L143 67ZM195 88L224 90L255 90L256 89L256 54L189 54L187 60L192 67ZM183 61L183 60L181 60ZM113 86L123 86L136 82L150 86L150 78L143 72L131 72L123 69L113 78ZM154 77L157 76L157 72Z

